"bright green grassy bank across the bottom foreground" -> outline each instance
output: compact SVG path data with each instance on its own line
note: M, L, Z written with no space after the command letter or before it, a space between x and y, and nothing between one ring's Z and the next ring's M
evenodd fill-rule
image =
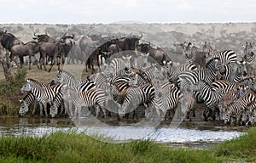
M150 141L103 143L84 133L0 138L1 162L222 162L256 160L256 127L212 149L171 149Z

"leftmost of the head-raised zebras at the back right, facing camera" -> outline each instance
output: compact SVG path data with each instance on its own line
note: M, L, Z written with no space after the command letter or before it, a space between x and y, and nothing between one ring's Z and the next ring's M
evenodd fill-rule
M188 59L190 64L195 64L198 68L206 68L206 55L204 50L196 48L191 42L183 48L183 55L185 59Z

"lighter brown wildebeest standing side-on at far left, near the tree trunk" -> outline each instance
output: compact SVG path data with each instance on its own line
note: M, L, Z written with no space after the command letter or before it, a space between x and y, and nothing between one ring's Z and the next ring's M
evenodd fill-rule
M10 61L12 62L15 56L20 59L20 66L24 64L24 56L29 56L29 69L31 69L32 56L39 52L38 42L26 42L24 45L15 45L11 48Z

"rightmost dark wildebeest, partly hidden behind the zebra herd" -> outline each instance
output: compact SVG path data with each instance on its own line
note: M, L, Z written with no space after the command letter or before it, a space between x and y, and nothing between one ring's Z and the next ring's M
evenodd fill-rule
M168 56L161 48L152 48L150 43L141 43L137 45L137 51L142 53L149 53L149 56L153 59L148 59L150 62L157 62L159 65L165 65L168 59Z

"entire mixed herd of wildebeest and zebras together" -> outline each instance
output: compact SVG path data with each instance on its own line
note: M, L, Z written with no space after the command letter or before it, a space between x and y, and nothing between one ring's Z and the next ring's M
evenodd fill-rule
M20 65L23 56L39 52L38 68L44 65L46 70L47 57L51 60L49 70L67 58L67 62L77 59L84 63L92 73L79 80L59 68L52 82L27 79L20 89L26 93L20 100L20 115L26 114L30 104L35 105L34 113L39 104L41 116L49 113L51 117L94 115L105 120L126 117L169 121L177 110L185 110L181 114L193 121L199 109L197 103L202 103L205 121L254 124L254 42L245 42L240 55L232 49L213 49L208 42L202 48L184 42L180 44L182 53L175 53L183 58L177 63L172 61L172 53L153 48L150 42L140 43L142 37L132 33L126 37L87 35L74 43L74 35L65 34L57 40L34 34L36 42L23 43L1 31L1 45L10 51L10 59L19 56ZM26 45L32 50L23 54L25 50L15 48Z

